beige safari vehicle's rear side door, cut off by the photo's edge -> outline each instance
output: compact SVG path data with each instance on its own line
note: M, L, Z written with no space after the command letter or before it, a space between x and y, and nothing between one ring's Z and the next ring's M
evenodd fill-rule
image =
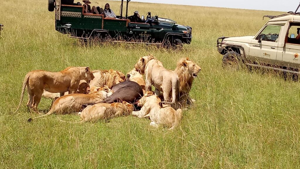
M300 65L300 23L290 23L283 48L282 65L299 69Z

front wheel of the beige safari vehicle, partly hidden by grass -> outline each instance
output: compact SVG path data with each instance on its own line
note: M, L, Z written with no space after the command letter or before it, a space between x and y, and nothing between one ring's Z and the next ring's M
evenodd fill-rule
M234 51L229 51L223 56L222 66L224 69L239 70L244 65L241 55Z

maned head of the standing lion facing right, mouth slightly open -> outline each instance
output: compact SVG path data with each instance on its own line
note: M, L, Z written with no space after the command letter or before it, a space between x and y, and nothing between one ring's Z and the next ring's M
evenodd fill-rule
M188 57L177 62L175 72L179 76L180 91L190 92L194 78L197 77L201 67Z

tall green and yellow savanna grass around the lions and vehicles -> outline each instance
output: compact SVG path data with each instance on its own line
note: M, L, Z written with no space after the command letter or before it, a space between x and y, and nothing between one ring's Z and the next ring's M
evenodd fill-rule
M76 2L76 1L75 1ZM119 13L120 1L109 2ZM300 166L299 82L272 72L225 71L216 38L254 35L280 12L158 5L130 2L138 10L193 28L182 51L146 45L88 45L55 31L47 1L0 1L0 168L298 168ZM154 129L132 116L109 123L71 124L51 115L31 123L25 96L14 114L27 72L68 66L130 71L139 57L157 57L167 69L190 57L202 71L179 128ZM26 94L27 95L27 94ZM39 109L48 110L43 98ZM60 115L67 121L78 116Z

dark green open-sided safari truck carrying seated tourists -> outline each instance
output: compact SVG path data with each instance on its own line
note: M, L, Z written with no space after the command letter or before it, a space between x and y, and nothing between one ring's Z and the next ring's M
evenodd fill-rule
M71 38L107 38L115 42L148 43L172 46L190 44L192 28L176 24L175 21L158 16L152 17L148 12L146 20L142 16L140 23L128 19L128 3L123 17L121 1L120 15L116 18L104 18L101 14L84 13L83 6L74 0L48 0L48 11L55 10L55 29ZM122 41L121 41L122 40Z

